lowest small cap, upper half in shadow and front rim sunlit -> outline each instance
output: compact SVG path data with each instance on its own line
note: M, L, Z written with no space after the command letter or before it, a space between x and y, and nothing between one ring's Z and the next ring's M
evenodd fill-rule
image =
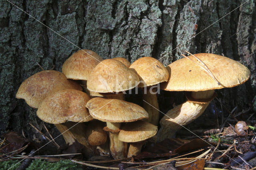
M118 140L123 142L140 142L151 138L156 132L157 126L145 121L126 123L118 134Z

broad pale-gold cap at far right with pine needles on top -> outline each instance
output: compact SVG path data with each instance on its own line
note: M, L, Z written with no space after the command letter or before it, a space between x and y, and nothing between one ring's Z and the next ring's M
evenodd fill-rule
M250 77L250 71L241 63L228 57L211 53L195 54L210 69L214 80L204 69L193 61L197 61L192 55L190 59L182 58L174 61L166 68L169 79L161 84L161 89L168 91L206 91L234 87L246 82Z

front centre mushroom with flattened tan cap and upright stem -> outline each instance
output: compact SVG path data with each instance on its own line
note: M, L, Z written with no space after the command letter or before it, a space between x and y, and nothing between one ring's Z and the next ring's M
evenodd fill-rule
M104 121L109 132L110 151L114 159L122 159L127 154L127 143L118 140L118 133L122 122L132 122L148 118L148 113L140 106L118 99L104 99L95 97L87 102L94 119Z

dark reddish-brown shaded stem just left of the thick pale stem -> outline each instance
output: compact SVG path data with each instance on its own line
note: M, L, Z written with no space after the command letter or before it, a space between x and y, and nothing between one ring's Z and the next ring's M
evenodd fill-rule
M159 122L159 106L156 96L156 88L146 88L146 93L144 91L142 98L145 101L143 108L148 112L148 119L145 119L145 121L157 126Z

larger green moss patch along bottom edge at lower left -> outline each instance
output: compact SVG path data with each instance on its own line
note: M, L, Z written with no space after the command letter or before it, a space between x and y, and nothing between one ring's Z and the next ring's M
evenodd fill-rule
M46 160L36 159L33 160L26 170L82 170L83 166L71 162L70 160L60 160L59 162L48 162Z

